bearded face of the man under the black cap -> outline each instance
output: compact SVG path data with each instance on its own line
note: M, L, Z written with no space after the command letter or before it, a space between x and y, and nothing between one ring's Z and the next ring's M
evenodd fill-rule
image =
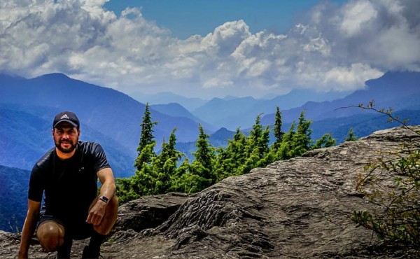
M60 123L52 129L55 146L62 153L71 153L76 148L80 130L69 123Z

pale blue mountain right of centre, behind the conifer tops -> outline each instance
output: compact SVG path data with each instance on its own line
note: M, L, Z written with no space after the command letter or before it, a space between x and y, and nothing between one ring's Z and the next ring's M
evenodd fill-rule
M288 94L272 99L255 99L253 97L214 98L193 111L193 114L216 127L227 127L236 130L237 127L247 128L255 123L260 113L274 113L276 106L280 109L290 109L302 106L309 100L322 102L344 97L349 92L316 92L315 90L292 90Z

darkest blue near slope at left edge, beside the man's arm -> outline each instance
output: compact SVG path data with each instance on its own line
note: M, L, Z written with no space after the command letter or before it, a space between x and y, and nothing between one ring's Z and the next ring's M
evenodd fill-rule
M27 214L27 194L30 172L0 165L0 230L22 230Z

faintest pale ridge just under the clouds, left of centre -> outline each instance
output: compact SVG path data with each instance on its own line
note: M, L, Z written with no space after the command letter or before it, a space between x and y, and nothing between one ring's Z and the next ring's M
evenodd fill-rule
M193 111L208 101L200 98L183 97L179 94L174 94L172 92L144 94L143 92L137 91L130 94L130 96L144 104L181 104L181 106L188 109L188 111Z

